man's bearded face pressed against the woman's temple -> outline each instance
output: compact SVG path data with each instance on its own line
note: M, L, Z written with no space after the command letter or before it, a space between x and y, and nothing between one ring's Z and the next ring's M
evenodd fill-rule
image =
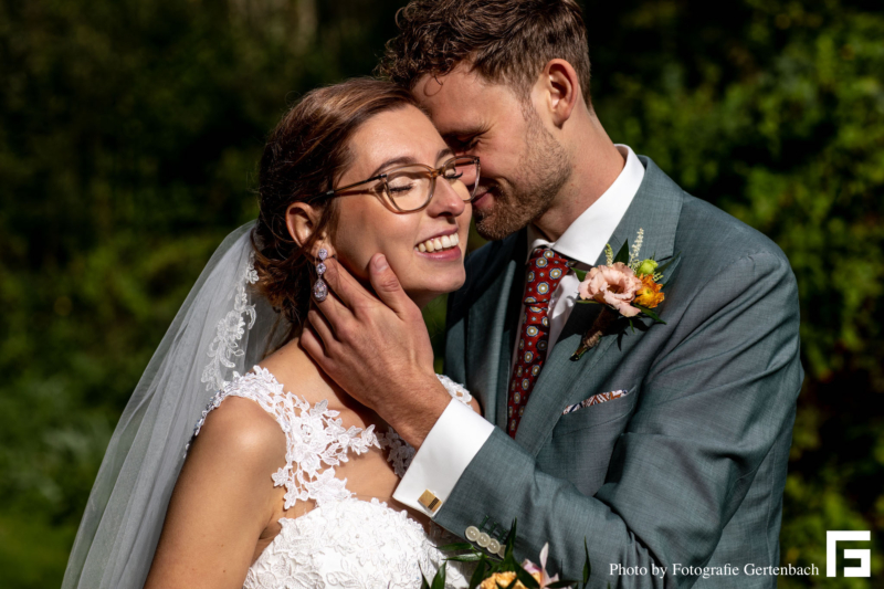
M503 239L554 204L571 167L536 109L543 96L517 96L463 64L444 76L423 76L413 94L455 154L481 160L473 212L483 238Z

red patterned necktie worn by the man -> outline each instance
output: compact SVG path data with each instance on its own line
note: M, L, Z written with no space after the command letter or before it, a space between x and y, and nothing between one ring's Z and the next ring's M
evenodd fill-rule
M528 261L525 277L525 314L518 340L518 356L509 377L507 400L507 432L516 437L522 413L528 403L534 383L540 376L549 344L549 299L559 282L568 273L568 261L549 249L538 248Z

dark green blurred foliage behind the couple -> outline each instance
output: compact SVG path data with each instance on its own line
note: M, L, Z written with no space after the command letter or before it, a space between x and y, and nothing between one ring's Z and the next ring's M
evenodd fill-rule
M60 583L129 392L255 214L264 135L299 93L370 73L400 4L0 0L0 586ZM780 585L880 582L880 2L585 6L611 137L771 236L798 276L782 561L821 576ZM824 577L827 529L872 530L871 581Z

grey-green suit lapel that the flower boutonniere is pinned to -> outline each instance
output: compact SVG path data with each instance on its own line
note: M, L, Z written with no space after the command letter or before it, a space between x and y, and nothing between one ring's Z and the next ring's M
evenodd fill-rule
M641 256L655 255L659 262L665 261L674 255L675 230L682 210L683 192L653 161L639 157L645 167L644 179L609 243L614 250L627 240L632 244L639 229L644 229ZM596 265L603 263L604 253L599 256ZM671 267L666 274L671 274L672 270ZM570 397L572 388L580 387L587 391L586 397L593 392L603 392L596 389L607 375L593 370L593 367L606 354L613 354L611 345L617 336L602 337L580 360L570 359L601 308L597 305L576 305L544 365L516 433L516 441L533 455L540 451L552 432L565 408L564 399ZM641 335L641 332L636 332L627 337Z

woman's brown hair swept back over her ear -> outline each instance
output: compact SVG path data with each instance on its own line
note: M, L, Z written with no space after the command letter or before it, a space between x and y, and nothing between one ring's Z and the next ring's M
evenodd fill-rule
M306 243L288 234L286 210L334 188L352 162L349 140L360 125L383 112L417 106L407 90L390 82L354 78L308 92L270 134L261 157L257 224L252 230L259 292L301 333L316 280L313 250L323 233L336 229L338 199L322 208Z

